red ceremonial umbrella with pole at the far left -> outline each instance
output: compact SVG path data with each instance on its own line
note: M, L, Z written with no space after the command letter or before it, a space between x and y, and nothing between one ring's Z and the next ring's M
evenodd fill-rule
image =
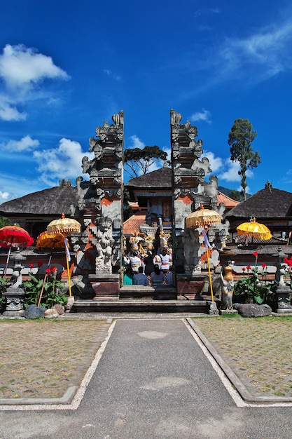
M11 254L11 247L29 247L34 242L34 238L29 235L29 233L18 227L14 226L4 226L0 229L0 245L1 247L8 247L8 256L6 259L6 266L4 270L4 276L6 276L7 266L9 262L9 257ZM2 274L3 277L3 274Z

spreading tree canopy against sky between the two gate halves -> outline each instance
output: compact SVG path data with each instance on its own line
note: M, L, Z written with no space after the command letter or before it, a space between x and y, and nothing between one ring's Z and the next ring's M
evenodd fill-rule
M165 161L167 153L162 151L158 146L125 149L125 172L131 178L139 177L148 173L149 168L156 162Z

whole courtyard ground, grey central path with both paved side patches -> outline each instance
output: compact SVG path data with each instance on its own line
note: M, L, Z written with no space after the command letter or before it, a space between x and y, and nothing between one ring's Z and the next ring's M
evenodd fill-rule
M1 319L0 438L290 438L291 319Z

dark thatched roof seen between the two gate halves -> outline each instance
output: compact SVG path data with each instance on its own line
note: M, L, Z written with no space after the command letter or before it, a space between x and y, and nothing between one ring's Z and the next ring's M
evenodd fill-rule
M126 187L132 188L171 188L172 187L172 170L170 168L160 168L158 170L153 170L151 173L141 175L140 177L135 177L129 180Z

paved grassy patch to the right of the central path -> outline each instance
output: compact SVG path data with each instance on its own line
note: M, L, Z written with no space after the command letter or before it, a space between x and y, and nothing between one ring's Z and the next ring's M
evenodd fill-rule
M292 397L292 317L193 321L254 396Z

